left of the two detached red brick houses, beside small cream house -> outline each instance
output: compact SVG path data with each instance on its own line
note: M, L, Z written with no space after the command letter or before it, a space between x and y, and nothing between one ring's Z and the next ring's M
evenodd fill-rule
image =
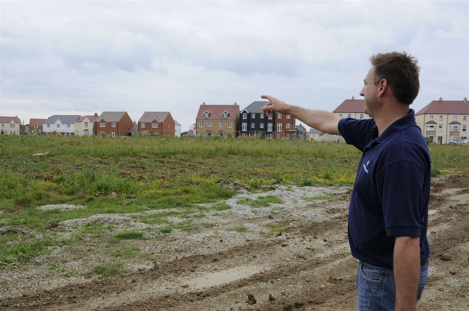
M126 111L103 111L94 121L94 134L131 136L132 133L129 130L132 125L132 119Z

